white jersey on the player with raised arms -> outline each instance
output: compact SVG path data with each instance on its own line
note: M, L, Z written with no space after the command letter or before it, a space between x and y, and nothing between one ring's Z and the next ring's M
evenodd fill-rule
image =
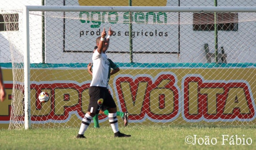
M110 62L105 53L99 53L97 49L92 55L93 72L90 86L107 87L108 69Z

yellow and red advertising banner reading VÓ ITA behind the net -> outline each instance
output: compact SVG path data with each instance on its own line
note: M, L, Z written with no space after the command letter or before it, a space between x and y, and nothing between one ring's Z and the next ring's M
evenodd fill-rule
M81 72L87 73L87 69L49 69L43 74L40 68L31 70L32 123L69 126L74 125L74 120L82 119L88 108L91 77L76 75ZM248 76L241 76L247 72L250 72ZM13 90L12 79L5 76L11 69L3 69L3 73L7 96L0 103L0 127L9 124ZM129 122L255 123L256 84L248 80L255 73L255 69L250 68L121 69L116 76L111 76L110 91L117 109L129 111ZM39 102L41 91L50 94L48 102ZM99 119L105 121L106 117Z

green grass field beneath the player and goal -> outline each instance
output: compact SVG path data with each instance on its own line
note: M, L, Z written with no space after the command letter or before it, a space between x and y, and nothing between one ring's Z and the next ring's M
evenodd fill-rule
M0 133L1 133L0 134L0 150L10 150L10 149L19 149L19 150L78 150L78 149L253 150L253 149L256 149L256 126L234 127L234 126L138 125L138 126L127 126L127 127L121 126L119 127L119 129L121 132L124 132L125 134L131 134L131 137L127 137L127 138L113 137L113 132L110 126L102 126L99 129L94 129L92 126L90 126L84 134L87 137L87 139L76 139L76 135L79 130L78 128L59 128L59 129L47 128L47 129L30 129L30 130L2 129L0 130ZM196 144L195 145L187 144L185 142L185 138L187 136L194 137L194 135L197 135ZM231 138L232 135L233 135L233 139ZM209 140L207 139L207 136L209 136ZM239 138L241 139L240 145L238 145L240 142ZM247 140L247 143L250 145L246 143L246 140ZM187 142L188 141L191 141L191 138L188 138ZM209 143L207 141L209 141ZM245 145L243 145L243 143Z

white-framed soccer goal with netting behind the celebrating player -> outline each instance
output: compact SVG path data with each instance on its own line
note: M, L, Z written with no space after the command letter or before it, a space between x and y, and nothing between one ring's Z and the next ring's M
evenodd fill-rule
M256 123L256 7L25 6L11 14L19 23L6 24L16 30L8 34L9 129L79 126L87 64L110 27L107 56L120 71L109 88L129 125ZM99 115L101 126L106 120Z

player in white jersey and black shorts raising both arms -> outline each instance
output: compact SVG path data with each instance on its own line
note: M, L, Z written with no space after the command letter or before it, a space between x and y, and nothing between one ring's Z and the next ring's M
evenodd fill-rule
M111 28L108 30L108 39L113 34ZM92 118L99 113L100 109L108 110L108 120L114 132L114 137L130 137L131 135L122 134L118 129L118 121L116 117L116 103L107 89L107 75L110 62L107 60L106 51L108 42L105 38L105 28L101 33L101 37L96 39L98 48L92 55L93 72L92 82L89 88L90 101L88 111L82 119L81 127L78 131L77 138L86 138L84 132L88 129Z

